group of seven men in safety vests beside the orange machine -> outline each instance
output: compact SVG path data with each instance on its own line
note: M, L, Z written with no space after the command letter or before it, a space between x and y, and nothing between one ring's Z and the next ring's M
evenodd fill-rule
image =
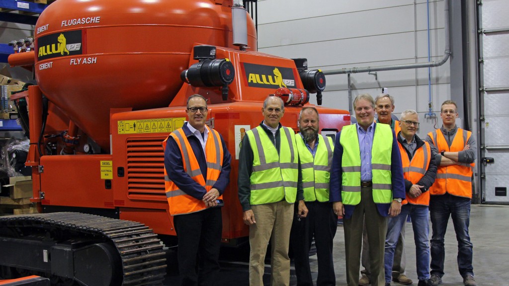
M298 134L282 126L284 103L271 96L262 107L264 120L245 133L238 196L249 226L249 285L263 285L269 242L271 285L290 284L290 244L297 285L313 285L308 259L313 238L316 283L335 285L332 245L337 216L344 217L349 286L387 286L392 279L412 283L405 275L404 253L403 261L394 256L401 253L398 242L404 249L407 216L414 230L418 286L442 282L449 216L459 242L463 282L476 285L468 236L476 150L471 132L456 126L456 104L442 104L443 126L426 140L415 134L416 111L405 110L400 121L390 119L394 101L388 95L376 102L369 94L359 95L353 107L357 123L344 126L333 142L319 134L314 107L301 109ZM207 108L202 96L189 97L189 121L163 142L166 196L179 247L186 249L178 253L181 285L215 284L219 272L221 194L229 183L231 155L221 135L205 125ZM365 270L359 281L361 249Z

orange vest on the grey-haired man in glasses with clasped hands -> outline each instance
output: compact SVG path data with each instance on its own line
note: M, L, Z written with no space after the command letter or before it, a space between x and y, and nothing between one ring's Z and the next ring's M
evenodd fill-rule
M398 146L400 147L401 163L403 165L403 177L412 182L412 184L417 184L419 180L426 174L426 171L430 166L430 161L432 159L435 160L435 158L431 158L430 145L428 142L424 142L423 146L415 149L415 153L411 161L408 158L405 147L403 147L400 141L398 141ZM429 206L430 191L423 192L418 197L410 197L407 192L405 201L412 205Z

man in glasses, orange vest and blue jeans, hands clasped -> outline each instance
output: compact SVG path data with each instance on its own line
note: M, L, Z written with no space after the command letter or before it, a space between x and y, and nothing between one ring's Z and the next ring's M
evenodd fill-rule
M401 132L398 133L397 138L408 204L401 207L401 213L398 216L389 218L385 239L385 284L390 285L394 249L409 215L412 218L414 231L418 286L430 286L430 246L428 242L430 192L428 189L435 182L437 173L435 152L432 151L428 142L422 141L415 134L419 128L419 116L415 110L403 111L399 125Z

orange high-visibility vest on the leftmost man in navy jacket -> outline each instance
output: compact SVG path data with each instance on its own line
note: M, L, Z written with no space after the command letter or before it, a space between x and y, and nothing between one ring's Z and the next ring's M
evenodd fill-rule
M207 181L205 181L200 165L194 156L194 152L189 145L189 141L182 128L179 128L169 134L172 136L177 145L179 146L180 153L182 155L182 163L184 164L184 170L187 175L191 177L196 183L202 185L205 190L210 191L221 173L222 160L223 160L223 149L221 144L221 138L219 133L205 126L209 130L207 142L205 142L205 157L207 160ZM168 138L169 138L168 136ZM163 143L163 149L166 149L166 138ZM200 199L196 199L179 187L168 178L166 167L164 167L164 186L166 191L166 198L169 204L169 213L171 215L188 214L205 210L207 207L205 203ZM222 195L218 197L222 199Z

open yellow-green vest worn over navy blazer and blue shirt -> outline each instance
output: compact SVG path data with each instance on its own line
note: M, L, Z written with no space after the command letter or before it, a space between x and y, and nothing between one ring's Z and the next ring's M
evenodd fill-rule
M373 201L389 204L392 201L391 154L392 129L387 124L376 124L371 150L373 173ZM360 202L360 148L357 125L347 125L341 130L340 144L343 146L342 191L343 204L358 205Z

